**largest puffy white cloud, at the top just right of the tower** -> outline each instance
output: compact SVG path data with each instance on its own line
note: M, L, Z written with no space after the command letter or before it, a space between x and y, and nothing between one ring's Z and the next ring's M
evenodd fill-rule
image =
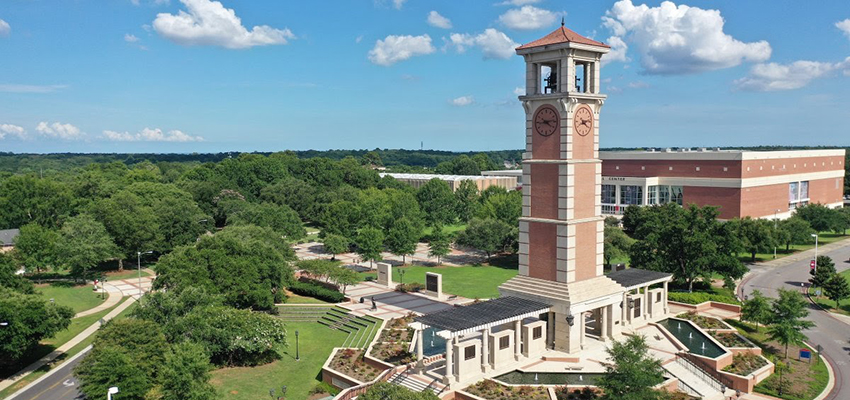
M770 58L764 40L744 43L723 32L718 10L665 1L658 7L620 0L605 12L604 25L635 44L650 74L688 74L763 62Z

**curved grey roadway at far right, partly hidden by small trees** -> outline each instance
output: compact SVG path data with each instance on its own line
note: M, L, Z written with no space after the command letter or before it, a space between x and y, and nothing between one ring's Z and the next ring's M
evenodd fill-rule
M850 246L838 248L829 252L821 252L835 262L838 272L850 269ZM753 290L762 294L777 297L777 289L803 290L801 284L808 286L809 260L794 261L784 266L768 267L753 265L751 274L741 284L743 294L749 295ZM807 330L808 343L812 346L823 346L823 355L835 370L835 388L826 400L850 398L850 387L843 388L843 382L850 382L850 326L829 313L809 304L808 319L817 326Z

